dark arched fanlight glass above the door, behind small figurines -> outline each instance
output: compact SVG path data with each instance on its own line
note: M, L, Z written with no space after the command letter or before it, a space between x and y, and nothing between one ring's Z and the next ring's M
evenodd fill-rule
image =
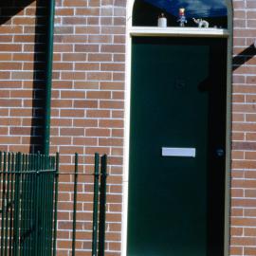
M210 27L228 27L226 0L137 0L133 8L133 26L155 27L164 13L168 27L178 27L179 9L185 9L186 27L197 27L192 18L207 20Z

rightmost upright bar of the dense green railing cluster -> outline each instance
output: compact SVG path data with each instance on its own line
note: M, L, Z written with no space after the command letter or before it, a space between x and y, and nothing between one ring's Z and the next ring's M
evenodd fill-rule
M60 155L56 154L56 173L55 173L55 196L54 196L54 230L53 230L53 256L56 256L57 244L57 218L58 218L58 192L59 192L59 161Z

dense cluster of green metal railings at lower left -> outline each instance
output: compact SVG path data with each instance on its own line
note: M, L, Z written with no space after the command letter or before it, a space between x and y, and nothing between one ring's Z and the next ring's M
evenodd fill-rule
M53 255L56 156L0 153L0 255Z

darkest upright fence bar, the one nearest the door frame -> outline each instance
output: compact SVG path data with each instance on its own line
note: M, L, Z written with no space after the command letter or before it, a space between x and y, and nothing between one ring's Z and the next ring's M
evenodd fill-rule
M98 256L105 254L107 155L101 156L101 188Z

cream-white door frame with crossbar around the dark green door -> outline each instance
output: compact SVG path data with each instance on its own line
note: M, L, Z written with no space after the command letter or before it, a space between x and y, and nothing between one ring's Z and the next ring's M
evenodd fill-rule
M123 157L123 200L121 220L121 256L126 256L128 230L128 182L129 182L129 149L131 123L131 76L132 76L132 38L136 36L164 37L210 37L227 38L227 120L226 120L226 194L225 194L225 234L224 256L229 256L230 244L230 170L231 170L231 93L232 93L232 45L233 45L233 9L231 0L226 0L228 8L228 28L197 27L133 27L133 7L136 0L127 0L126 18L126 58L125 58L125 101L124 101L124 157Z

